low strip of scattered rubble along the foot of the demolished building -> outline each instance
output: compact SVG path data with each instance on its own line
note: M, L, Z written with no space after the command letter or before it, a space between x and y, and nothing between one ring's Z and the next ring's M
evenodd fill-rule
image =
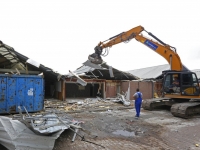
M67 99L66 101L45 100L45 110L55 110L63 113L80 113L83 111L108 110L117 109L123 104L125 107L130 106L130 100L126 99L126 95L117 94L115 98L103 99L101 97L85 98L85 99Z

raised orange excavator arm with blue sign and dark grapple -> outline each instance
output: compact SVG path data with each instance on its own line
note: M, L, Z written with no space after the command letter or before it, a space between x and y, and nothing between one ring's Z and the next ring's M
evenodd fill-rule
M144 37L141 33L145 31L147 32L142 26L137 26L135 28L132 28L131 30L127 32L122 32L114 37L109 38L108 40L104 42L100 42L95 48L95 53L88 56L88 59L95 64L101 64L102 58L101 56L105 56L106 48L110 48L113 45L119 44L121 42L127 42L131 39L136 39L138 42L146 45L150 49L152 49L154 52L158 53L162 57L164 57L167 62L171 66L171 70L181 71L182 70L182 63L179 55L176 53L176 49L170 45L165 44L160 39L158 39L156 36L154 36L152 33L147 32L148 35L154 38L154 40L151 40L149 38ZM103 53L103 50L105 49L105 53Z

